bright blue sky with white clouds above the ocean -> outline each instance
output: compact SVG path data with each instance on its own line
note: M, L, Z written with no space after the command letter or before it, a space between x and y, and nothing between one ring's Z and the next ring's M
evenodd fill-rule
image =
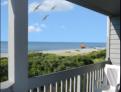
M38 8L38 10L33 11L33 9L39 3L41 3L41 6ZM7 5L7 0L1 1L2 41L8 40ZM54 8L53 10L52 7ZM92 10L72 4L70 2L64 0L29 0L28 14L29 41L106 41L107 17Z

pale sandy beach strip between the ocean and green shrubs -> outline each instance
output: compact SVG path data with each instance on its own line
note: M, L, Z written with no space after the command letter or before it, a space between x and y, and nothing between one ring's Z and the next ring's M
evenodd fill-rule
M81 55L86 54L92 51L103 50L105 48L86 48L86 49L68 49L68 50L48 50L48 51L37 51L34 53L50 53L56 54L60 56L74 56L74 55ZM31 52L32 53L32 52ZM7 53L1 53L1 57L8 57Z

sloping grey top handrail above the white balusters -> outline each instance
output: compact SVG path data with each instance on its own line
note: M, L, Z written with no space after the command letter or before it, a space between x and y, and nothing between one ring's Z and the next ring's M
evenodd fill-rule
M56 83L57 81L69 79L70 77L74 77L81 74L86 74L91 71L98 70L99 68L104 68L105 64L108 64L108 63L110 62L106 61L106 62L101 62L96 64L85 65L85 66L81 66L70 70L60 71L60 72L56 72L48 75L35 76L32 78L29 78L28 87L29 89L32 89L38 86L49 85L50 83L53 84L53 83Z

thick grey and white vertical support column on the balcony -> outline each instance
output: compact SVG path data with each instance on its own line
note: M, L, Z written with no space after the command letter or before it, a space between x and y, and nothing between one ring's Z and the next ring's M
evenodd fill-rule
M28 0L8 0L8 77L14 92L28 89Z

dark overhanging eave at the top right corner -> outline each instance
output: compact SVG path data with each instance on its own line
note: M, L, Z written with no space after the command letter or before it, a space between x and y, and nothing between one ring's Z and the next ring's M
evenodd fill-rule
M120 0L67 0L108 16L120 16Z

